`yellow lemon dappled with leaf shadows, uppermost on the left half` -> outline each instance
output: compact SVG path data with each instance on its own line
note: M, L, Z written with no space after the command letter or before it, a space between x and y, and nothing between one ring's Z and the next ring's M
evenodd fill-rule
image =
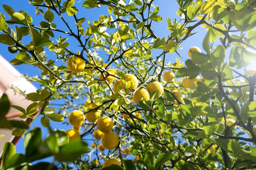
M79 73L85 68L85 62L79 57L70 57L67 60L67 68L73 73Z

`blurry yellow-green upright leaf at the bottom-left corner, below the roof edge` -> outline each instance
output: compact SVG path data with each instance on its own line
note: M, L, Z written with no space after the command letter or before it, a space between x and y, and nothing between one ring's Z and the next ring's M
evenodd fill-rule
M1 170L7 169L6 166L14 154L15 154L14 144L11 142L5 142L3 152L2 152Z

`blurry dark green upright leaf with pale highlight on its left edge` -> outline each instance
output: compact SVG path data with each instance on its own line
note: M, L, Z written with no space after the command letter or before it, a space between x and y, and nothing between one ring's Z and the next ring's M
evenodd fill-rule
M33 128L27 132L24 140L26 161L36 160L40 156L38 147L42 143L42 131L39 127Z

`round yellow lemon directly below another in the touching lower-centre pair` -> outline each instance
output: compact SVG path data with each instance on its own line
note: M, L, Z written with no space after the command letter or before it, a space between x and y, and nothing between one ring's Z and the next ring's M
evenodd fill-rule
M119 143L119 137L114 132L106 132L104 133L101 142L104 148L112 150L117 147Z

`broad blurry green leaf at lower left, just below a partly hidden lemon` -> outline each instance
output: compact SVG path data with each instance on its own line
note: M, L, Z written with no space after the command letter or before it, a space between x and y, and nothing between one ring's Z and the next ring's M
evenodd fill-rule
M72 140L69 144L62 146L54 157L57 161L76 161L85 152L88 152L88 144L80 139Z

